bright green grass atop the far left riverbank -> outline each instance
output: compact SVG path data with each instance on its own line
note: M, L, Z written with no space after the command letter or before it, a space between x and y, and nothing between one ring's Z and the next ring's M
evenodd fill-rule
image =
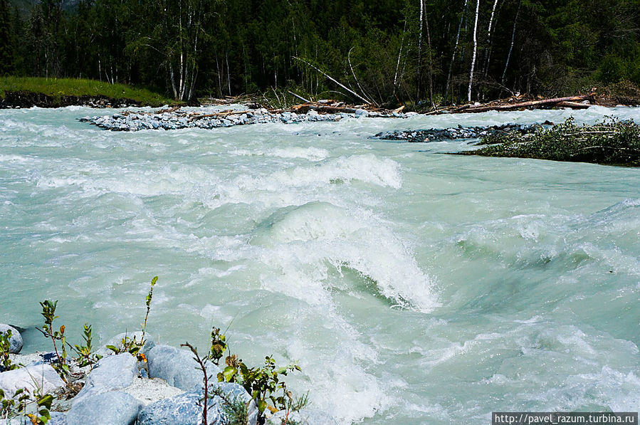
M43 93L54 99L65 95L102 95L112 99L130 99L152 107L177 104L174 100L146 88L75 78L0 77L0 98L4 98L8 91Z

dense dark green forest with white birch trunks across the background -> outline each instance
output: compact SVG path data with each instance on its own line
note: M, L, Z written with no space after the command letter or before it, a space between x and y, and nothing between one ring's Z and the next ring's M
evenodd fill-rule
M0 75L457 104L639 85L639 31L640 0L0 0Z

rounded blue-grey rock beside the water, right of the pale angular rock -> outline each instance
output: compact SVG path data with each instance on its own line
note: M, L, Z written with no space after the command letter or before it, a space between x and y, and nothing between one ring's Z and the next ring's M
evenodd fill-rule
M169 345L157 345L147 355L149 377L161 378L172 387L194 391L202 387L203 374L194 355L189 350L178 350ZM221 369L213 363L207 364L207 372L216 377Z

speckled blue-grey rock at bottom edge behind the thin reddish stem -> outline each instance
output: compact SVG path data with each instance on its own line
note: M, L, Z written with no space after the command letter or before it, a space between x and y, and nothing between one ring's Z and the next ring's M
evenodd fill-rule
M203 421L199 392L187 392L149 404L138 414L137 425L194 425ZM206 419L209 425L224 424L219 397L209 399Z

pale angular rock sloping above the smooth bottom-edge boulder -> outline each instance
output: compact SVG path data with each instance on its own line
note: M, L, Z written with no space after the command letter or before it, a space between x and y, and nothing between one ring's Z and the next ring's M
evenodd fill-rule
M88 397L129 387L137 376L137 360L128 352L107 356L95 364L73 405Z

